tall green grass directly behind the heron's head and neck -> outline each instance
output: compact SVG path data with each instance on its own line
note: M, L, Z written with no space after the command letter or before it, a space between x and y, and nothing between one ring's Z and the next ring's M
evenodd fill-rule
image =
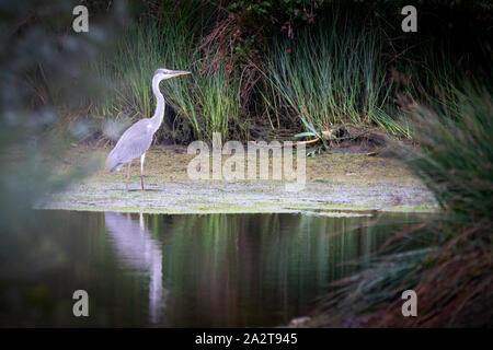
M238 80L223 67L203 71L200 37L194 28L197 24L190 24L191 16L167 18L165 24L154 20L139 23L116 43L111 60L106 56L92 63L92 70L112 89L92 105L91 114L116 119L124 115L134 121L150 117L156 103L150 85L154 70L191 70L192 75L167 80L160 86L173 113L167 108L165 120L171 127L161 128L158 138L186 141L191 138L186 129L195 139L211 139L216 131L226 138L230 121L238 120ZM184 135L179 135L180 130Z

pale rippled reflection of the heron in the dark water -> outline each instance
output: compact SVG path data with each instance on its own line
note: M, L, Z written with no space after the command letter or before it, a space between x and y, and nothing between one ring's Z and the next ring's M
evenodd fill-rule
M129 268L149 276L149 318L158 323L164 308L165 290L162 285L162 250L146 229L144 217L139 221L129 214L105 212L106 231L110 234L118 257Z

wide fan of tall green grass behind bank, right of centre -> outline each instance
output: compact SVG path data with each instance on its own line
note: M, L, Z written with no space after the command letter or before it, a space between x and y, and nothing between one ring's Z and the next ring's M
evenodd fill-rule
M408 135L386 112L391 85L379 56L377 28L358 27L348 19L333 16L300 33L296 43L277 39L267 58L266 77L279 104L263 94L273 109L287 112L313 125L318 132L334 125L378 126L393 135Z

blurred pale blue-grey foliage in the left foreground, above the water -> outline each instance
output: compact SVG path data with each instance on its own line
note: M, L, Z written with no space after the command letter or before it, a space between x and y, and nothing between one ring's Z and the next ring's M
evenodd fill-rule
M72 172L54 174L70 142L90 132L83 119L68 122L67 109L87 101L91 77L81 63L105 45L107 27L91 23L89 33L72 31L76 2L4 1L0 7L0 176L2 225L22 221L24 209L51 190L60 189L89 170L74 164ZM53 132L59 124L68 132ZM93 164L94 165L94 164Z

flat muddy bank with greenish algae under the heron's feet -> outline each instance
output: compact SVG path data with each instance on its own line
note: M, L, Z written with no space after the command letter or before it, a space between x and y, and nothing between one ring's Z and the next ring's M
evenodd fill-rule
M77 148L66 171L82 158L108 149ZM103 170L39 208L161 212L307 212L432 211L433 197L395 159L365 153L322 154L307 159L307 183L301 191L286 191L282 180L190 180L186 166L193 159L182 148L154 148L146 158L146 190L140 190L138 161L133 163L130 190L125 190L125 171ZM72 165L70 165L72 164ZM335 212L335 213L334 213Z

